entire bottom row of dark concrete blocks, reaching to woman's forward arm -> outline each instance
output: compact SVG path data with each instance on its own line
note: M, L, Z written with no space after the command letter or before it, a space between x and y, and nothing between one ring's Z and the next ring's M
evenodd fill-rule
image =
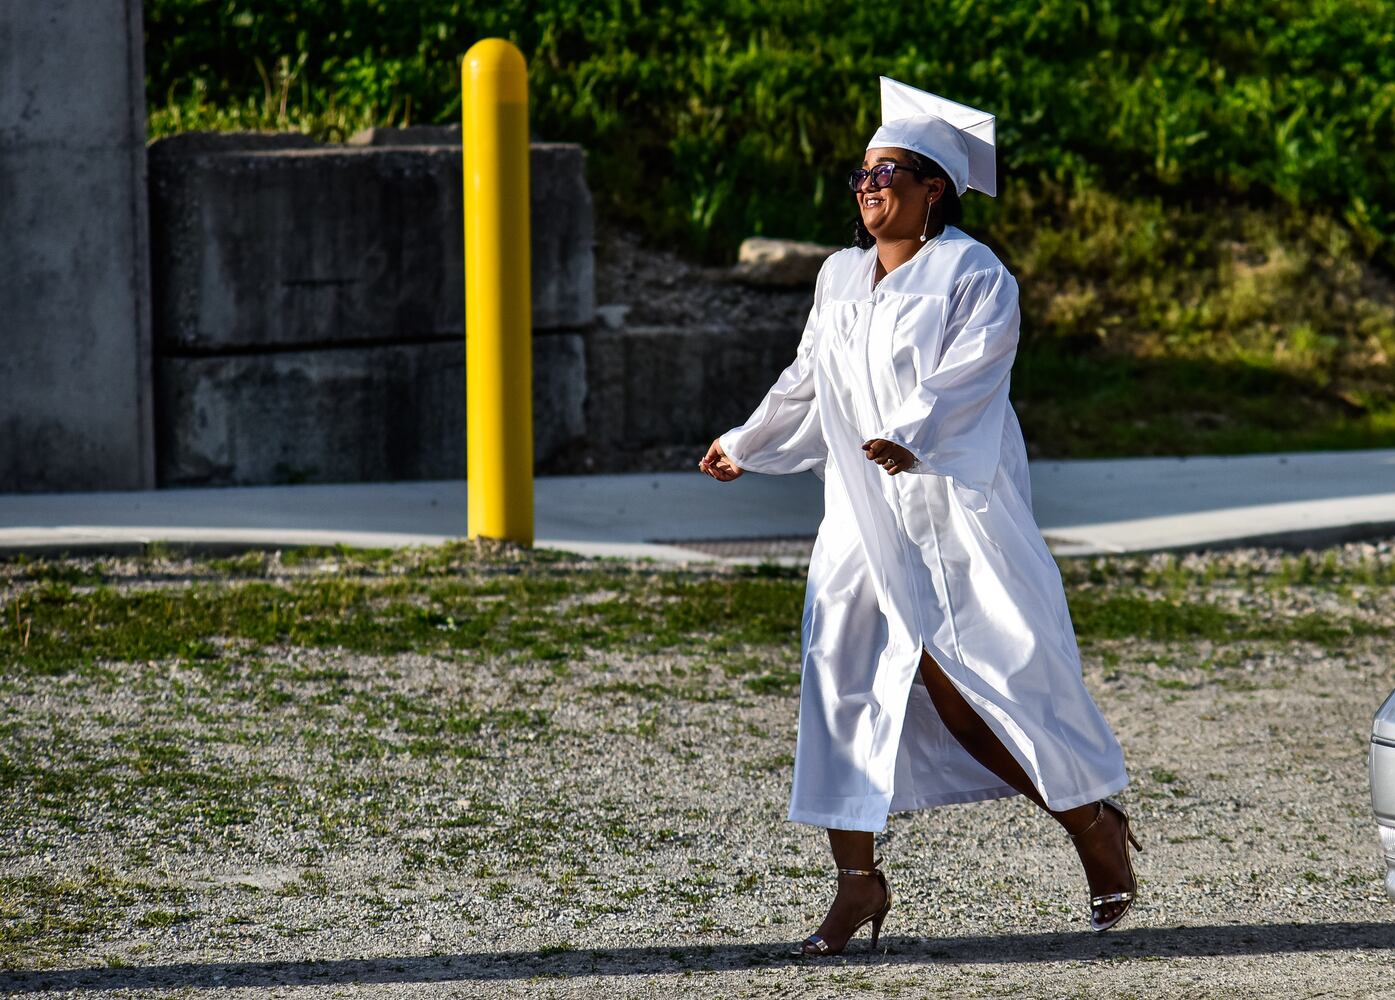
M674 467L749 416L798 340L787 328L540 332L536 470ZM459 339L165 357L156 381L162 485L463 476Z

